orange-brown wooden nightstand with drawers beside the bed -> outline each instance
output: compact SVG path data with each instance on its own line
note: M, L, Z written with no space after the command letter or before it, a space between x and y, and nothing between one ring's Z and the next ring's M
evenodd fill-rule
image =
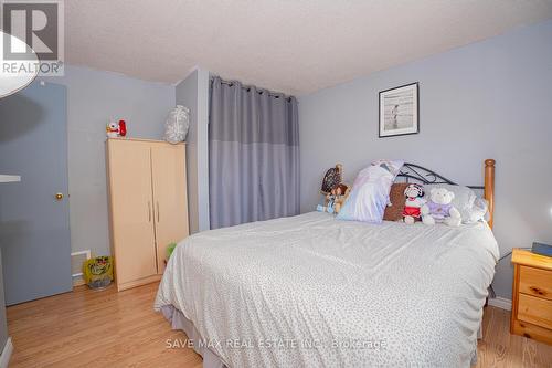
M552 344L552 259L514 249L510 333Z

